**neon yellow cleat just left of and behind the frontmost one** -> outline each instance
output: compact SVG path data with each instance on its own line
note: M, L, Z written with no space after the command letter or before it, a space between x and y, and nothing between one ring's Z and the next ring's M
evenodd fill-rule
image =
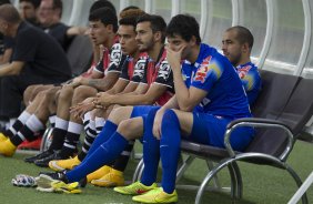
M124 195L140 195L147 193L151 190L156 188L156 183L153 183L150 186L143 185L140 182L134 182L128 186L114 187L114 191Z

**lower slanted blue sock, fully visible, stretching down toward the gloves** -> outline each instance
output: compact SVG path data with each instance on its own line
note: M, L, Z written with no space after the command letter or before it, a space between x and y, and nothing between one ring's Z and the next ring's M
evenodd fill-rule
M93 151L90 156L85 157L80 165L65 173L68 181L70 183L78 182L99 167L112 162L123 152L128 143L127 139L115 132L105 143Z

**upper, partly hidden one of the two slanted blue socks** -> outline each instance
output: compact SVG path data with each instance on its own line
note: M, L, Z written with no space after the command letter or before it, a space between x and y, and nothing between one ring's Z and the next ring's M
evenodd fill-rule
M104 126L102 128L102 131L100 132L100 134L95 137L95 140L91 144L84 160L89 155L91 155L101 144L107 142L111 137L111 135L117 131L117 129L118 129L118 125L108 120Z

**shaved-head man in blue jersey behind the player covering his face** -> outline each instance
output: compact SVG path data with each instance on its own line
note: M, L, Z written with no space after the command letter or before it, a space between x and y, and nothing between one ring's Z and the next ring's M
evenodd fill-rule
M256 100L262 85L258 67L255 67L250 59L252 47L253 35L250 30L244 27L231 27L223 34L223 54L236 69L250 105Z

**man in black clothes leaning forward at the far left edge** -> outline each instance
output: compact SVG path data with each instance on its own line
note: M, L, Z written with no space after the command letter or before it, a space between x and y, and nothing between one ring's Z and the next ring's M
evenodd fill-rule
M60 44L22 21L13 6L0 7L0 32L16 42L12 62L0 68L0 76L6 76L1 81L6 88L1 90L1 113L11 119L20 114L22 93L28 85L64 82L71 78L71 70ZM0 152L18 143L7 140Z

